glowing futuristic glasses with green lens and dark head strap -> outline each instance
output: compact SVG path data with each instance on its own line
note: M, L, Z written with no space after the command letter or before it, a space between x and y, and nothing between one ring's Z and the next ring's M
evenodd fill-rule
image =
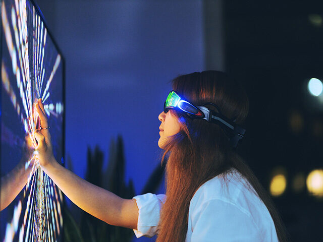
M205 105L210 104L217 108L218 112L209 110ZM237 147L239 140L244 137L245 129L236 125L233 120L221 113L220 108L211 102L204 103L202 106L194 106L188 101L183 100L175 91L170 91L164 103L164 112L176 109L186 113L191 118L205 119L207 122L218 124L229 137L230 143L234 148Z

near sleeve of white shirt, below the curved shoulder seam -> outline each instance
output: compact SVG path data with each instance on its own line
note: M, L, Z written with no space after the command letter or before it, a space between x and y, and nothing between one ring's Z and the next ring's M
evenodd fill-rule
M235 204L212 199L192 212L191 242L263 241L261 233L247 211Z

